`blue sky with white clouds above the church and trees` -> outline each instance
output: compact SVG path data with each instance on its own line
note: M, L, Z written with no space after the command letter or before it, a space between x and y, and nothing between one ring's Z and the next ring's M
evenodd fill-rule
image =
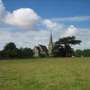
M90 0L0 0L0 49L48 45L61 37L82 40L75 48L90 48Z

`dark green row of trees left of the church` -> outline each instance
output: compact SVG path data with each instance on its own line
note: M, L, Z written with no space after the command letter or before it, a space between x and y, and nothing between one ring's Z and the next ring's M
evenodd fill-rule
M17 48L15 43L10 42L0 51L0 59L14 58L32 58L33 50L31 48Z

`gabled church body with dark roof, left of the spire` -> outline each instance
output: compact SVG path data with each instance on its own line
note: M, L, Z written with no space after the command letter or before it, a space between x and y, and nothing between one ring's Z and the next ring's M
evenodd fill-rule
M48 56L48 49L44 45L35 46L33 49L34 57L45 57Z

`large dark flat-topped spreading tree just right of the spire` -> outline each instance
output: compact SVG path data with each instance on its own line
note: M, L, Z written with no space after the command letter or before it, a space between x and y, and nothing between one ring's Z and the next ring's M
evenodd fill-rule
M55 42L53 52L58 51L61 54L63 53L64 57L71 57L74 53L71 45L76 45L80 43L81 40L76 40L75 36L60 38L58 41ZM55 47L57 47L57 49L55 49Z

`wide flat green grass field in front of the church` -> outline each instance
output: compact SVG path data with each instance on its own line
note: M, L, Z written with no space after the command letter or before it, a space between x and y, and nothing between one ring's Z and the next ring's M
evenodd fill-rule
M0 90L90 90L90 58L1 60Z

